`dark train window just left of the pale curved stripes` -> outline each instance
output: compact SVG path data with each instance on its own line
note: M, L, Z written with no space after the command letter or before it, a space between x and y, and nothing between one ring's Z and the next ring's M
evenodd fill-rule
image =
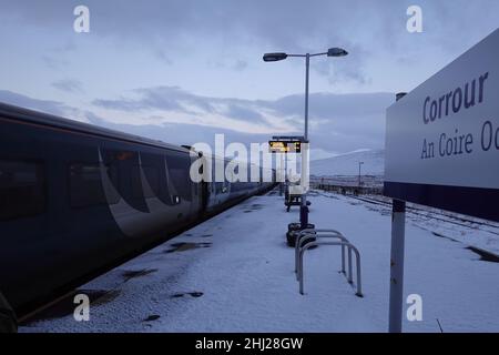
M115 175L114 169L106 166L111 178ZM88 207L99 204L115 204L119 196L106 199L102 187L101 170L99 164L74 163L69 168L71 206ZM109 201L108 201L109 200Z

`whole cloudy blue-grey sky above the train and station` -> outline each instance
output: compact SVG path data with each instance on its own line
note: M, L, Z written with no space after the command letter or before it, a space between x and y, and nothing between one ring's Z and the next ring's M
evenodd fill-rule
M77 33L77 6L90 32ZM409 33L409 6L422 32ZM0 102L174 144L303 134L312 159L383 149L385 111L497 29L497 0L0 0Z

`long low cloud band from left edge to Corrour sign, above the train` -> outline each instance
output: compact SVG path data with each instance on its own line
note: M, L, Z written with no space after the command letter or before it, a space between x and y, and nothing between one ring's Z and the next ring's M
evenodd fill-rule
M35 100L10 91L0 91L0 101L175 144L213 144L217 133L225 134L228 143L245 144L265 142L274 134L303 134L303 95L252 101L198 97L180 88L149 88L136 92L144 95L136 99L95 100L94 108L99 109L99 113L92 106L72 108L61 102ZM166 93L171 95L167 97ZM325 153L343 153L383 148L385 110L393 101L393 93L312 94L313 149ZM185 109L184 102L190 102L191 109ZM179 110L183 113L197 111L196 115L191 112L176 119ZM203 121L204 115L213 112L217 114L216 120ZM115 113L120 118L128 114L133 120L112 120ZM287 122L292 129L287 132L274 129L276 125L269 122L273 118ZM237 129L237 121L244 122L244 129ZM266 128L264 132L262 126Z

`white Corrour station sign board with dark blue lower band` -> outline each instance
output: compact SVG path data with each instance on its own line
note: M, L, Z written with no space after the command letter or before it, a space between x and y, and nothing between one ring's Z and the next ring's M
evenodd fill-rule
M499 29L388 108L385 194L499 221Z

